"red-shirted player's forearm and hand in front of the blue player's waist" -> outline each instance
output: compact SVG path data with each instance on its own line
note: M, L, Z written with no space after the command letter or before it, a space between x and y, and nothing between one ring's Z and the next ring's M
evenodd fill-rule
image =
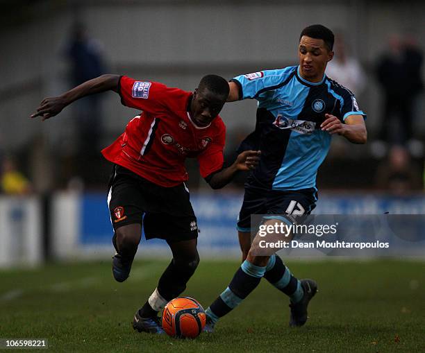
M206 178L208 184L210 184L210 187L213 189L222 189L222 187L231 182L238 171L250 171L251 169L255 169L260 161L260 154L260 150L245 150L238 155L231 166L222 169L222 171L213 173L212 175L208 175Z

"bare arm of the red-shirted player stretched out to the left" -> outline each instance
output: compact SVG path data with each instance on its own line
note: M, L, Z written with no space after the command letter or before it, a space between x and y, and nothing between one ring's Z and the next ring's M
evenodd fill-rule
M119 75L102 75L93 78L60 96L44 98L36 112L30 117L42 117L42 121L44 121L59 114L63 108L79 98L110 90L118 92L118 85Z

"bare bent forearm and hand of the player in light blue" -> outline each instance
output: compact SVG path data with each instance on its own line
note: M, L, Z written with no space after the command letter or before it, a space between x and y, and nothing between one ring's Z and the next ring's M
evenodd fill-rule
M362 115L350 115L342 123L340 119L332 114L325 114L326 120L320 125L323 131L331 135L338 134L344 136L353 144L365 144L367 141L367 130L365 119Z

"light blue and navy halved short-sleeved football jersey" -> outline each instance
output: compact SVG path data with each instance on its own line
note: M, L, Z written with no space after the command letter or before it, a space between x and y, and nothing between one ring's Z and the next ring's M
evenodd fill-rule
M258 101L256 130L239 150L260 149L258 167L248 187L276 190L315 188L317 169L326 157L331 135L320 129L325 114L344 121L359 109L349 89L324 76L319 83L301 78L299 67L258 71L232 80L240 98Z

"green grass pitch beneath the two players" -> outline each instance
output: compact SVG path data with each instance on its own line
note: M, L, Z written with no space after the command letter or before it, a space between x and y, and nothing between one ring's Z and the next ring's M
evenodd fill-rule
M288 298L263 279L214 334L195 340L131 328L167 263L137 261L122 284L110 261L1 270L0 338L47 338L50 352L425 352L424 262L288 262L319 286L304 327L288 327ZM201 261L184 294L208 307L237 267Z

